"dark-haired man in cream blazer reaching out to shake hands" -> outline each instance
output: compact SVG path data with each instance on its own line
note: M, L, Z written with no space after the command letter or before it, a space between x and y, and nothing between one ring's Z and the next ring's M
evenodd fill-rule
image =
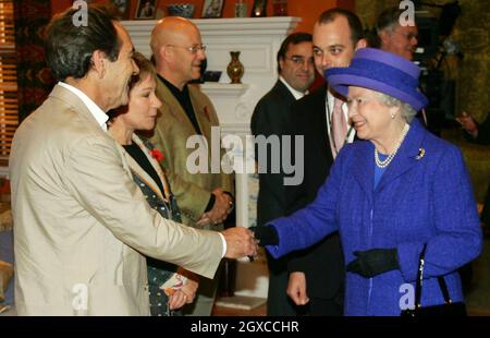
M248 230L221 234L161 218L133 183L106 112L127 104L137 73L122 25L89 8L47 29L60 80L19 128L10 158L15 305L21 315L148 315L142 254L212 277L221 257L255 253Z

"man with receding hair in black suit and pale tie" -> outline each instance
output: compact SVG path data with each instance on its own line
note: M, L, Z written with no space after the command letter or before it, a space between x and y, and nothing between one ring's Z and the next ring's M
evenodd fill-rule
M313 41L315 67L321 75L329 68L347 67L354 52L366 47L359 19L354 13L338 8L320 15L315 24ZM338 99L344 98L326 85L292 106L293 134L305 137L305 179L299 185L286 188L286 214L301 209L315 200L338 152L344 143L354 140L353 129L347 128L342 142L335 144L333 141L332 116L334 100ZM347 121L346 105L341 106L341 109ZM291 259L287 294L298 305L309 304L310 315L342 315L343 265L340 239L334 233Z

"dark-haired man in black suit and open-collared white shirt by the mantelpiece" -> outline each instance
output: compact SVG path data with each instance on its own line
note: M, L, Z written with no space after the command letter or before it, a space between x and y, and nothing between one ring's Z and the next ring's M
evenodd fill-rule
M290 135L291 105L303 97L315 80L311 35L295 33L287 36L278 51L279 80L273 88L257 104L252 117L254 136L279 137ZM285 142L285 141L284 141ZM267 147L267 146L266 146ZM281 147L282 149L282 147ZM259 168L259 194L257 203L257 224L264 225L272 219L285 216L285 185L283 166L273 173L272 157L281 150L267 149L267 164L258 160L260 152L256 144L256 160ZM282 155L281 155L282 156ZM281 158L279 164L289 162ZM269 166L266 168L265 166ZM268 315L294 315L296 310L286 294L287 257L273 259L268 257L269 291L267 298Z

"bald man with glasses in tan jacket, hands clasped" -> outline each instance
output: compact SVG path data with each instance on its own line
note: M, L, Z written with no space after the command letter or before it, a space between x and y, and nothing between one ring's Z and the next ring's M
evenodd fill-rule
M196 152L186 148L187 140L197 136L210 149L211 126L219 126L209 98L198 86L188 85L189 81L200 76L200 64L206 59L199 29L188 20L169 16L155 26L150 46L159 79L157 96L163 102L151 137L164 154L160 164L169 174L183 222L195 228L221 230L222 222L233 209L233 178L223 172L211 173L210 166L204 173L193 173L193 168L187 168L187 158ZM210 154L207 156L211 164ZM211 314L218 278L199 280L196 302L184 307L185 314Z

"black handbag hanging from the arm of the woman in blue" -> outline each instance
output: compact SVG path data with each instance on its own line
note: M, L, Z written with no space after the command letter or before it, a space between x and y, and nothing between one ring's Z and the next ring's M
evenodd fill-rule
M442 295L444 297L444 303L440 305L432 306L421 306L421 287L424 279L424 264L427 244L424 244L424 249L420 253L420 259L418 263L417 271L417 282L415 286L415 307L403 310L401 313L402 317L430 317L430 316L467 316L466 305L464 302L453 302L450 298L448 286L445 283L444 277L439 276L438 282L441 289Z

